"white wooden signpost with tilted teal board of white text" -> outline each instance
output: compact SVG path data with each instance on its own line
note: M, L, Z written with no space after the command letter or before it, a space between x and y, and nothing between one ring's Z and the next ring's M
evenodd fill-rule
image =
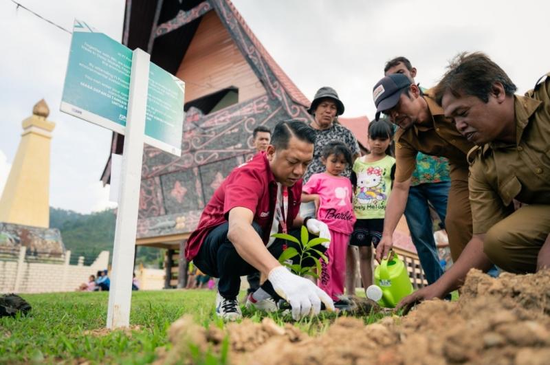
M61 111L124 134L107 328L129 327L144 142L181 154L184 82L74 22Z

